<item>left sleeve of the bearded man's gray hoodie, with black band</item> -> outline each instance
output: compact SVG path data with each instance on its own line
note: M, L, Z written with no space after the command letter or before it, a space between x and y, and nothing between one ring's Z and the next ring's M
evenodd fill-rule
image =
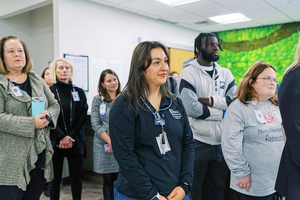
M195 77L187 71L179 75L179 94L187 112L187 116L201 120L222 121L223 110L205 106L198 102ZM208 97L207 97L208 98Z

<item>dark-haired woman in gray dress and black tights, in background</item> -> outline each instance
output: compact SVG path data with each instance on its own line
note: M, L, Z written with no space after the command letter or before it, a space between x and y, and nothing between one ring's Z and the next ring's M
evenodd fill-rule
M113 156L109 131L108 112L113 99L120 94L117 74L106 69L102 71L98 83L99 95L95 96L91 110L91 124L94 135L94 171L102 174L104 179L104 200L114 199L113 182L118 177L119 165Z

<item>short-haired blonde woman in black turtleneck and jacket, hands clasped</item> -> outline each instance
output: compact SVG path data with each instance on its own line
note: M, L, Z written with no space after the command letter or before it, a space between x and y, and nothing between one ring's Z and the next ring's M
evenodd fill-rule
M67 157L73 200L81 199L82 158L86 157L83 125L87 120L88 105L85 93L72 84L73 65L65 58L55 59L51 65L54 84L50 90L61 107L57 126L50 132L54 150L54 179L49 183L50 200L58 200L64 157Z

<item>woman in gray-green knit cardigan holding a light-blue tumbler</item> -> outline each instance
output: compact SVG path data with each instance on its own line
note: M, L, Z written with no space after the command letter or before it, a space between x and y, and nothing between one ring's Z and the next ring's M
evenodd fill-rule
M53 178L49 129L59 104L32 69L26 45L18 38L0 39L0 200L36 200L44 178ZM31 98L45 98L45 110L31 117ZM51 116L52 123L46 119Z

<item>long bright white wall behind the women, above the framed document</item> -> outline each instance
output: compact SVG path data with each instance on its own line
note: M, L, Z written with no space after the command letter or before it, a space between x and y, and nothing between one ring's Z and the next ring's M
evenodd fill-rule
M170 23L84 0L53 1L53 4L56 3L58 6L54 8L54 13L58 13L58 20L54 20L54 27L57 26L54 32L58 30L59 45L54 49L55 55L86 55L89 56L89 63L91 58L119 60L122 69L121 74L117 75L122 86L125 86L128 79L131 56L138 44L138 37L194 46L194 38L199 34ZM89 86L87 98L90 111L93 96L98 93L96 88L91 88L91 78Z

